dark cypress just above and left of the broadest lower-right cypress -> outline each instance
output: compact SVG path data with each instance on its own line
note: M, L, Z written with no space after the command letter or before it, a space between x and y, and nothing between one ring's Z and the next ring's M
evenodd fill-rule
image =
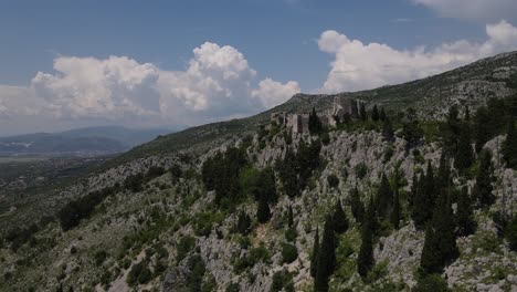
M431 161L428 161L428 173L425 177L420 180L421 187L414 198L413 211L411 217L413 218L414 225L418 229L423 229L425 222L431 220L433 216L435 187L434 187L434 175Z

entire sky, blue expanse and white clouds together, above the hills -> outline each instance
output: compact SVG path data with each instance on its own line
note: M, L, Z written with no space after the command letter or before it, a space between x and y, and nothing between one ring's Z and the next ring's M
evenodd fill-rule
M189 126L432 75L517 49L511 2L0 0L0 135Z

